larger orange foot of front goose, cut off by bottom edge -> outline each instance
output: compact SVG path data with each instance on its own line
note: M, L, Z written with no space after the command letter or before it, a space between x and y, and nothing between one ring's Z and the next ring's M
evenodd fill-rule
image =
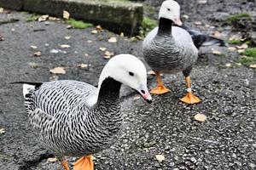
M93 156L83 156L73 163L73 170L93 170Z

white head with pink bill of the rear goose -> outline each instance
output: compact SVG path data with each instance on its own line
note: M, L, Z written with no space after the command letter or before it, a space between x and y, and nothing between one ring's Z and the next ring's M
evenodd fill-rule
M172 20L177 26L183 25L180 20L180 6L173 0L166 0L162 3L159 11L160 18Z

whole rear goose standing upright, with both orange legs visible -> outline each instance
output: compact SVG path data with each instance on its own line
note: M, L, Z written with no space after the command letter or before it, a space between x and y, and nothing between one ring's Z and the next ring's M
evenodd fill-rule
M201 99L191 92L189 77L198 57L198 50L189 32L177 27L182 26L179 4L173 0L164 1L160 7L159 20L159 26L150 31L143 41L143 57L157 77L157 87L150 93L166 94L170 91L164 86L160 73L183 71L188 88L181 100L188 104L199 103Z

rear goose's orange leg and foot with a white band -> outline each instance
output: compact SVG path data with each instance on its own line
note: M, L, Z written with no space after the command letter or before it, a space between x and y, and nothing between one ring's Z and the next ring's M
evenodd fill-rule
M196 104L196 103L201 102L201 99L196 97L191 92L191 80L190 80L190 77L185 77L185 82L187 83L187 87L188 87L187 91L188 91L188 93L182 99L180 99L180 100L183 101L184 103L187 103L187 104Z

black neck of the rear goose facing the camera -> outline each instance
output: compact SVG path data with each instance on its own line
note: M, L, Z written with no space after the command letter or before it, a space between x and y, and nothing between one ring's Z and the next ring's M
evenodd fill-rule
M172 35L172 20L160 18L158 35Z

